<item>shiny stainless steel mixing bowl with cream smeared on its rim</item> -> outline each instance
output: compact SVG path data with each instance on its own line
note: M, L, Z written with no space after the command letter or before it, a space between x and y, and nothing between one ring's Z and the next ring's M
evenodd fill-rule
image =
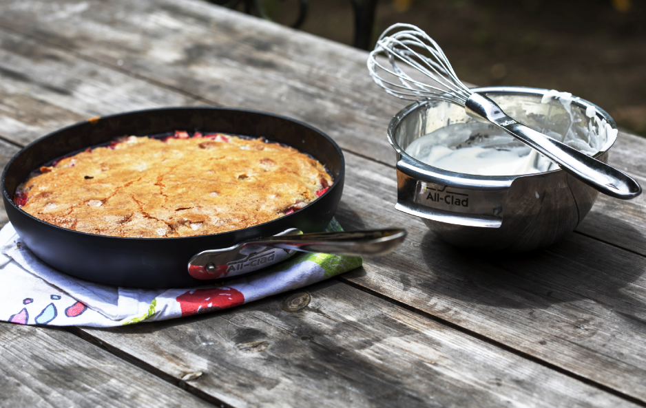
M472 90L492 98L512 118L553 137L572 129L585 141L591 120L595 123L586 111L616 129L603 109L580 98L572 98L572 116L555 98L541 103L548 89ZM598 191L561 169L528 175L472 175L438 169L405 152L414 140L433 132L440 135L438 144L453 149L479 143L490 149L522 146L512 136L489 138L486 133L493 129L487 126L467 116L462 107L445 102L414 103L399 111L388 126L388 140L397 151L395 208L421 217L449 244L482 250L533 250L572 232L592 208ZM607 162L616 131L603 133L596 140L598 153L593 157Z

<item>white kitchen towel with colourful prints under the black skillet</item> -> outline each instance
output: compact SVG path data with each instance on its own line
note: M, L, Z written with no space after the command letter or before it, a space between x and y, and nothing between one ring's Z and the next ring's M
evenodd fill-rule
M333 219L326 230L342 230ZM106 286L65 275L34 255L11 224L0 230L0 320L98 328L233 308L362 265L360 257L297 253L251 277L181 289Z

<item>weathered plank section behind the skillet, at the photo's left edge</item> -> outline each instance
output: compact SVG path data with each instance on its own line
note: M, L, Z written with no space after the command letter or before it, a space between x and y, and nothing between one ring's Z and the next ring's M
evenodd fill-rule
M6 30L0 30L0 78L0 135L21 144L94 116L203 105Z

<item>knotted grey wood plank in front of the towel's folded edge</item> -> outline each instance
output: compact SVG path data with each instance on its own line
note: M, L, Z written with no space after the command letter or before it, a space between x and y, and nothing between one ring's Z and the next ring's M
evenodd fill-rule
M84 331L236 407L632 405L338 282L181 323Z

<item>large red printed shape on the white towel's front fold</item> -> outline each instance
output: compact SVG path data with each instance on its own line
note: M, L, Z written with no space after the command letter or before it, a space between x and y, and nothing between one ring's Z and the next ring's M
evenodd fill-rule
M244 303L244 295L233 288L194 289L180 294L176 301L182 308L182 316L233 308Z

